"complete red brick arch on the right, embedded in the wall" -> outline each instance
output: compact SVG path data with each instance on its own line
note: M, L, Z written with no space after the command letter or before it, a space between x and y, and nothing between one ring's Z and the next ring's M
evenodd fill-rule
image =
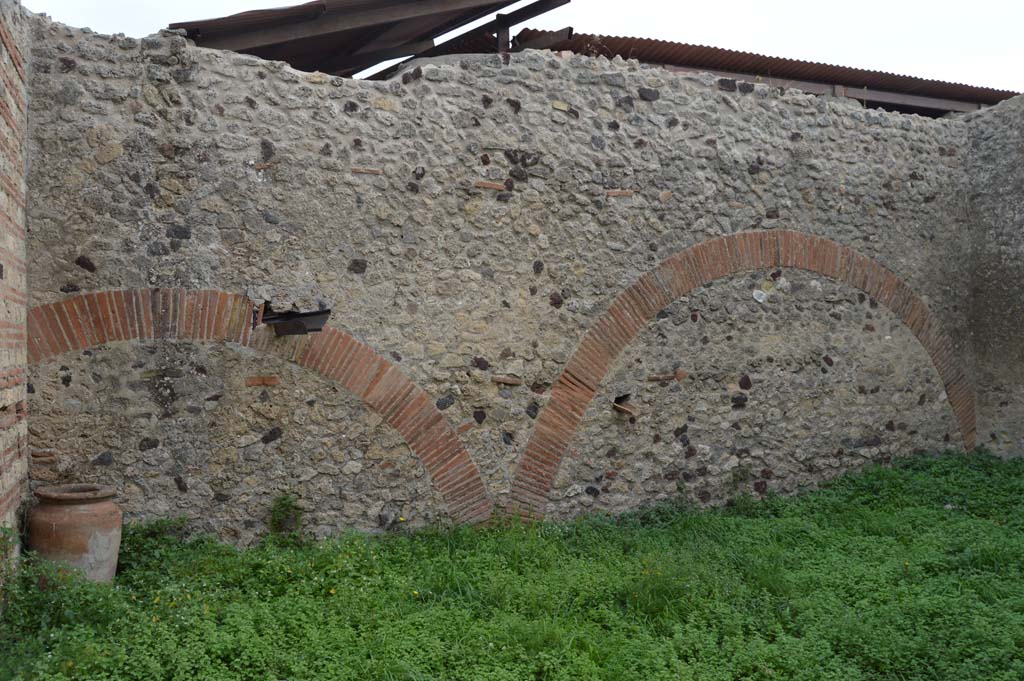
M512 510L543 515L552 481L587 407L616 357L658 310L689 291L729 274L795 267L860 289L896 313L928 351L959 427L975 445L974 391L953 355L950 338L910 288L854 250L799 231L745 231L692 246L664 260L623 291L587 331L551 388L512 482Z

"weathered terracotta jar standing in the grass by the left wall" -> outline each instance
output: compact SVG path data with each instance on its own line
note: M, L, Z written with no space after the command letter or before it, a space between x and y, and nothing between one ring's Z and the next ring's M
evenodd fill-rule
M103 484L54 484L36 490L29 513L29 546L40 556L79 568L93 582L118 569L121 509Z

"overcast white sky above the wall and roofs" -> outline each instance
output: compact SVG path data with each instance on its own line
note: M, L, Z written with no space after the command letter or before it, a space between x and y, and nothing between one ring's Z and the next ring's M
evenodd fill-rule
M72 26L141 37L173 22L300 1L23 4ZM523 4L529 3L510 9ZM1024 0L572 0L524 26L571 26L578 33L662 38L1024 92Z

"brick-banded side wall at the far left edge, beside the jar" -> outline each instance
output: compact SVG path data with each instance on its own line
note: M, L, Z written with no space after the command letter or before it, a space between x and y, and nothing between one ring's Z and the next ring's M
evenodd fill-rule
M0 3L0 527L3 528L17 525L29 472L25 418L28 57L27 15L14 3ZM6 552L6 542L0 539L0 552Z

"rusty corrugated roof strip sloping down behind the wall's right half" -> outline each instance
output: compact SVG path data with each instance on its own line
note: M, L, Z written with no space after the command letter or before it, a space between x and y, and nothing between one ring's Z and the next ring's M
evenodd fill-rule
M519 33L516 40L525 43L550 34L548 31L525 29ZM618 55L647 63L750 74L764 80L780 81L780 85L784 85L786 80L814 81L851 88L905 92L984 104L994 104L1018 94L1011 90L650 38L577 34L569 40L552 45L549 49L569 50L594 56Z

